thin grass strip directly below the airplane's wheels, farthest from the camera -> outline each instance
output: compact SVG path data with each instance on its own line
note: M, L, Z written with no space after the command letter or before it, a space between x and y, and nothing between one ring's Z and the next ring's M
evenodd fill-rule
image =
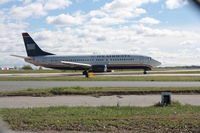
M0 77L0 81L200 81L200 76Z

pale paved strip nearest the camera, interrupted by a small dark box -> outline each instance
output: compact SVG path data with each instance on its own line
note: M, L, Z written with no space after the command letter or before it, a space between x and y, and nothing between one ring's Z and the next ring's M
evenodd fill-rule
M0 108L33 108L50 106L151 106L161 100L160 95L125 96L57 96L57 97L1 97ZM200 105L200 95L172 95L173 101Z

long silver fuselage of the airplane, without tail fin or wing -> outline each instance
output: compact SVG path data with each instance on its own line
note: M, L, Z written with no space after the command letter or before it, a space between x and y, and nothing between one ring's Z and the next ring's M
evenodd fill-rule
M102 66L102 69L144 69L151 70L160 65L160 62L148 56L141 55L88 55L88 56L36 56L25 59L26 62L36 66L60 70L85 70L84 67L71 66L61 63L61 61L90 64L91 66Z

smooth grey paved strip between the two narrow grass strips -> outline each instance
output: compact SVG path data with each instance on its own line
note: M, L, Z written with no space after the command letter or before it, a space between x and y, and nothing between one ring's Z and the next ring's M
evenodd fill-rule
M0 81L0 91L52 87L200 87L200 82L179 81Z

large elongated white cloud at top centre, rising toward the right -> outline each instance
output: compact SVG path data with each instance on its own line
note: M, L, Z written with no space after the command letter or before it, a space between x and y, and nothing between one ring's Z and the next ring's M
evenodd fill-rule
M88 13L79 13L77 15L60 14L49 16L46 21L48 24L56 26L73 26L84 24L95 25L116 25L130 22L130 19L139 17L146 13L146 10L139 8L142 4L157 2L158 0L113 0L103 5L99 10L92 10ZM154 21L155 23L155 21Z

